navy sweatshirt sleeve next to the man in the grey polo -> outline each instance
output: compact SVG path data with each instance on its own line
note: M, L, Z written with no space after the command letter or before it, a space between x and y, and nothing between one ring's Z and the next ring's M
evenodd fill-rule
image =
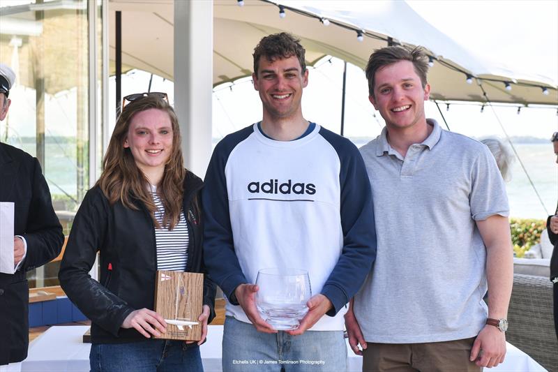
M322 289L322 295L333 304L327 315L333 316L356 294L370 272L376 258L376 230L370 181L359 150L348 140L326 139L338 151L341 162L343 248Z

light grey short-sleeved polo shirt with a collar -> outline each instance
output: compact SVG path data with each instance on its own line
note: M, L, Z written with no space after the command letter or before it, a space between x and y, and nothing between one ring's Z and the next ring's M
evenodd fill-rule
M488 147L427 121L432 133L405 158L386 128L361 147L377 256L354 313L368 342L469 338L488 314L486 248L475 221L508 216L504 181Z

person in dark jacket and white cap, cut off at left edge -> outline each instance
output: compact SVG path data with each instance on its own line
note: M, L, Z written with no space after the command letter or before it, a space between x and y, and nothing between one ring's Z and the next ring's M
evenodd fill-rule
M0 64L0 121L6 118L15 74ZM62 250L64 235L37 158L0 142L0 202L14 203L14 274L0 273L0 366L21 362L29 345L27 271ZM2 221L0 221L1 223ZM10 367L8 367L9 369ZM2 371L2 367L0 367Z

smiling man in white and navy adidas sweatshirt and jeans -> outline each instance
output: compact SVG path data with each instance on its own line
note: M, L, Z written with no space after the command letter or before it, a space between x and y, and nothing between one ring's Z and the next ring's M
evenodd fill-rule
M302 115L304 55L290 34L259 41L262 121L219 142L207 170L204 253L227 298L223 371L347 368L342 316L375 258L372 197L354 144ZM308 271L312 297L297 329L277 332L257 311L254 283L269 267Z

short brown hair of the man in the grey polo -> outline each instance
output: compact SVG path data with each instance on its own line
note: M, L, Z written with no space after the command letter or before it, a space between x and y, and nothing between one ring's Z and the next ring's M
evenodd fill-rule
M383 47L370 55L365 73L368 79L368 94L374 97L374 82L376 71L384 66L395 64L399 61L412 62L416 75L421 78L421 84L426 87L426 74L428 73L428 56L423 47L418 46L413 49L399 45L393 47Z

